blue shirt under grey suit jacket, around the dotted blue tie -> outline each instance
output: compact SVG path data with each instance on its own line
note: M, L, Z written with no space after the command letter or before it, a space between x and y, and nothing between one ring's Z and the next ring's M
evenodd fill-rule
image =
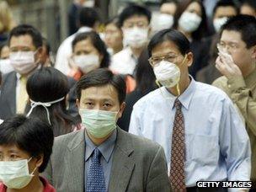
M103 167L104 170L104 179L106 184L106 189L108 189L109 186L109 178L110 178L110 171L112 167L112 159L113 159L113 151L115 148L115 141L116 141L116 130L113 132L109 138L104 141L100 146L94 145L93 141L90 140L90 138L87 135L87 132L85 131L85 172L84 172L84 189L86 189L87 184L87 177L88 177L88 170L90 168L90 164L92 162L93 158L93 150L98 147L99 151L101 152L102 156L100 157L100 164Z

